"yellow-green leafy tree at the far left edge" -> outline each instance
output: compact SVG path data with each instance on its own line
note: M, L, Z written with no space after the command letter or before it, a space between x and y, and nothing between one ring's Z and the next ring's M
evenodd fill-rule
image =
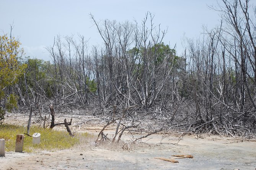
M26 64L18 62L18 55L23 53L20 45L14 37L0 36L0 120L4 119L6 109L17 107L17 96L8 87L17 83L26 69Z

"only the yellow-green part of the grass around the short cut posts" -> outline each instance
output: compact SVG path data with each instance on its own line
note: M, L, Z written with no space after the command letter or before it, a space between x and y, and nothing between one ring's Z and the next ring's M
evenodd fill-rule
M0 124L0 138L5 139L6 151L15 151L15 142L17 134L24 134L27 132L27 127L20 125ZM33 138L24 135L24 152L36 152L38 150L54 151L59 149L69 149L75 144L80 143L78 137L71 137L68 132L56 131L49 128L31 127L30 135L34 133L41 133L40 144L32 144ZM88 134L79 135L86 138Z

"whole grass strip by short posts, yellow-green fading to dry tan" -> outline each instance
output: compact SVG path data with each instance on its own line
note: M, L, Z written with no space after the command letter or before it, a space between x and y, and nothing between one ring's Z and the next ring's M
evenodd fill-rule
M15 151L15 141L17 134L26 133L27 127L21 125L0 124L0 138L5 139L6 151ZM37 152L41 150L56 151L60 149L78 149L90 150L92 148L109 149L113 151L118 150L135 150L136 144L120 141L119 143L111 143L111 140L101 141L95 145L96 136L91 133L76 133L75 137L71 137L68 132L63 130L54 130L49 128L31 127L30 134L40 133L40 144L32 144L33 138L24 135L24 152Z

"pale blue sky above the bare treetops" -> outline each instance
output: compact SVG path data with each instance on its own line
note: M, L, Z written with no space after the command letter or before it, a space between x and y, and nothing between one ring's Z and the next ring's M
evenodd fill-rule
M181 38L185 33L196 38L202 32L202 25L213 28L219 24L216 11L207 5L216 0L1 0L0 35L10 32L19 37L26 56L51 60L44 47L51 46L54 36L84 35L89 46L101 44L102 40L93 26L89 13L97 21L109 19L142 21L145 13L155 14L155 24L162 29L168 27L164 42L174 46L177 53L183 53Z

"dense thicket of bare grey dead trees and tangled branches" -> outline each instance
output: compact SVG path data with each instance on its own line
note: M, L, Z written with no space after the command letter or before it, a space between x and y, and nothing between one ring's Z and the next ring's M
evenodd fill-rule
M85 37L54 39L52 62L28 59L20 105L89 107L98 113L149 115L162 127L245 134L256 125L256 8L221 0L221 23L186 39L183 56L163 43L166 30L147 13L141 23L95 24L101 47Z

